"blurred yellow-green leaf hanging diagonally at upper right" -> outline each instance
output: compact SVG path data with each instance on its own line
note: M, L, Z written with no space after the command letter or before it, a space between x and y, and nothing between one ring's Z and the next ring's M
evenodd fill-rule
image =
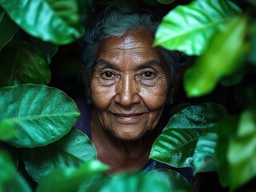
M189 97L209 94L220 78L241 66L246 28L246 17L233 18L225 31L219 31L211 39L205 54L185 71L184 86Z

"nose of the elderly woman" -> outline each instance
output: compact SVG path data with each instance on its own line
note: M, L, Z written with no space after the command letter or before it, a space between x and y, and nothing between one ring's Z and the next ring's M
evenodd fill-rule
M140 102L140 88L136 79L129 75L125 75L120 79L116 86L115 102L119 102L123 106L129 106Z

